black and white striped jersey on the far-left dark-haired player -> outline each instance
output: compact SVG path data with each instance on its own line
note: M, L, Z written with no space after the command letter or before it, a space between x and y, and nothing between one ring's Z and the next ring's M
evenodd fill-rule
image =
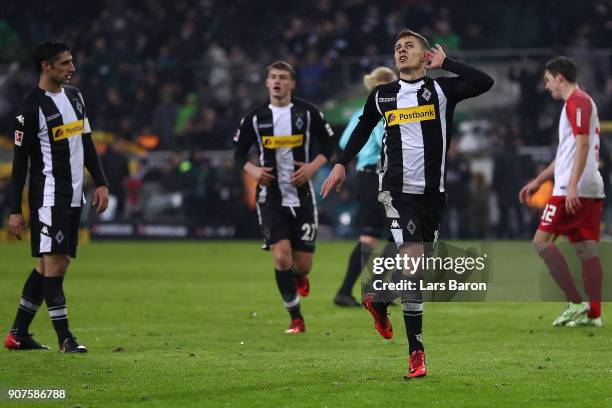
M36 88L15 117L11 213L21 212L30 171L31 208L80 207L83 166L97 186L108 186L93 140L83 95L71 86L58 93Z

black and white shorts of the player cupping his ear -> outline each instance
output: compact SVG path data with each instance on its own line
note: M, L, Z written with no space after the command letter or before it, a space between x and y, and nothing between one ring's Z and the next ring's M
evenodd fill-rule
M434 244L442 212L446 207L446 193L406 194L383 191L378 201L385 208L387 227L399 246L408 242Z

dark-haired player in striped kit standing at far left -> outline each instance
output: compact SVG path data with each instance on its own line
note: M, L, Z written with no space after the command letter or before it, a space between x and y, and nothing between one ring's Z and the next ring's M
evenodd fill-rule
M15 118L9 230L21 239L25 221L21 196L30 172L32 256L40 258L23 287L17 316L4 342L13 350L48 349L29 333L43 300L62 353L84 353L68 327L64 275L76 257L83 196L83 165L96 183L93 204L98 214L108 205L108 182L91 138L81 92L66 84L75 72L70 48L60 41L40 44L33 53L40 72L38 87L24 100Z

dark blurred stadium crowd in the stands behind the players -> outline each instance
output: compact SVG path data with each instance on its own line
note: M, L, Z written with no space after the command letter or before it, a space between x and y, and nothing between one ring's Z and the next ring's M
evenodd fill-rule
M265 66L279 58L293 64L295 94L327 113L363 97L362 75L389 65L395 33L410 27L496 79L495 101L459 117L443 236L527 237L536 214L519 207L518 189L552 159L560 110L543 89L542 63L561 50L576 57L579 82L602 121L610 119L611 16L609 0L10 2L0 6L0 190L13 109L37 82L30 50L60 38L72 46L73 85L85 95L117 198L112 219L231 225L227 235L257 236L244 199L252 186L233 168L231 149L241 116L266 98ZM341 133L342 117L330 122ZM356 232L351 187L322 203L330 236Z

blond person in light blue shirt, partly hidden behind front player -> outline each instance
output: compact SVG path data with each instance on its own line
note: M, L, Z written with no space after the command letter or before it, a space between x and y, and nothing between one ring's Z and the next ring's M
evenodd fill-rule
M378 67L363 77L363 85L371 92L376 86L397 80L397 75L387 67ZM356 111L346 125L340 137L340 147L345 148L363 108ZM357 281L361 268L368 262L372 251L378 245L385 229L385 216L381 204L377 200L378 171L380 170L380 149L385 133L383 121L378 122L368 142L357 154L357 184L359 186L359 223L361 233L359 242L353 248L349 257L346 275L342 285L334 297L338 306L360 306L352 295L353 285Z

